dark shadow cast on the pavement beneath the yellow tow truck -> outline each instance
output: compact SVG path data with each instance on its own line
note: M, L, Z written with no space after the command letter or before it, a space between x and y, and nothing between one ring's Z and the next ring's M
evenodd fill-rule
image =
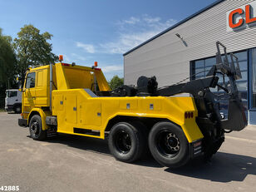
M111 155L108 149L107 139L100 140L78 135L61 134L57 137L47 139L44 142L60 143L80 150ZM163 167L153 159L150 153L145 155L142 160L136 161L133 164L146 167ZM208 163L205 163L202 158L198 158L178 169L168 168L165 169L165 171L177 175L185 175L216 182L243 181L247 175L256 175L256 158L218 152Z

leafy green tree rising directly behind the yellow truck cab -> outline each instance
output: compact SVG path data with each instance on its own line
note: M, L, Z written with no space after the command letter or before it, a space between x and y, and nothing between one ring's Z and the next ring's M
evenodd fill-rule
M25 25L17 33L14 47L17 52L18 74L22 77L22 82L29 66L48 65L57 61L57 56L52 53L52 44L48 42L51 38L52 34L40 33L40 30L32 25Z

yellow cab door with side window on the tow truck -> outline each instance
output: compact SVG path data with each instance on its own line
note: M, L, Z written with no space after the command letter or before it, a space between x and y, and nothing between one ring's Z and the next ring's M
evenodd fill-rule
M25 88L23 88L24 106L23 113L25 116L29 114L32 108L35 106L36 99L36 72L27 73L25 82Z

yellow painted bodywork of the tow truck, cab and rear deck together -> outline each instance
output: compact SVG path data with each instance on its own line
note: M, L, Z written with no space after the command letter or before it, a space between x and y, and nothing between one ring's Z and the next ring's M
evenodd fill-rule
M22 114L29 121L31 114L57 116L57 132L91 136L104 139L106 126L116 116L161 118L180 126L189 142L203 138L195 122L197 109L192 97L96 96L93 91L95 78L100 91L110 91L101 69L86 66L53 66L52 112L47 111L49 98L49 66L40 66L28 71L35 73L35 87L23 88ZM185 119L185 112L193 111L194 117ZM42 115L42 113L44 113ZM29 123L29 122L28 122ZM42 122L46 130L45 122ZM74 128L98 131L99 135L75 133Z

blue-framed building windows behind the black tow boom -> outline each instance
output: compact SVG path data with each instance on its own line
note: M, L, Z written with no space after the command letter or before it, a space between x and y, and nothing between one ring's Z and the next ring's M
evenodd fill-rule
M237 81L237 86L239 92L242 97L243 106L247 110L248 109L248 52L236 52L234 54L239 58L239 66L242 73L242 79ZM254 51L254 106L256 107L256 49ZM223 57L224 58L224 57ZM230 61L230 57L229 61ZM216 64L216 57L210 57L207 59L200 59L194 62L191 62L191 80L199 79L207 76L210 68ZM229 81L228 77L225 76L225 81ZM219 84L223 85L223 77L219 75ZM222 92L223 90L218 90L217 88L211 89L213 92ZM219 101L220 109L225 114L228 111L228 102L227 101Z

